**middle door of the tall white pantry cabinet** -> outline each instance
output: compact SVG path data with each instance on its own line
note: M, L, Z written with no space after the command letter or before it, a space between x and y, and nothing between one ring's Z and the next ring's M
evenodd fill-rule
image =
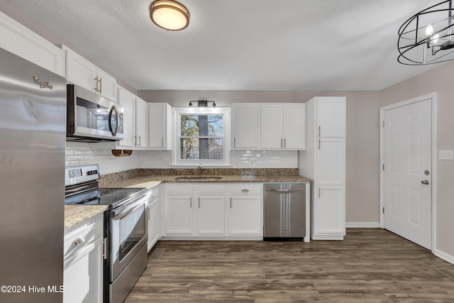
M345 139L318 138L316 142L318 185L345 184Z

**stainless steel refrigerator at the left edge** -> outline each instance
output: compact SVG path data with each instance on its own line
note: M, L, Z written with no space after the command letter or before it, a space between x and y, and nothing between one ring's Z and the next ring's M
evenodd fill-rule
M0 48L0 302L62 302L66 82Z

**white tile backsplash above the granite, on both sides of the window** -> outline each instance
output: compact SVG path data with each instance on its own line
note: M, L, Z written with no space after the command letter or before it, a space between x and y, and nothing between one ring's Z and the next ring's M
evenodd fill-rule
M133 150L128 157L115 157L115 143L66 143L66 166L99 164L101 174L134 168L173 167L169 150ZM294 150L234 150L232 168L297 168L298 152Z

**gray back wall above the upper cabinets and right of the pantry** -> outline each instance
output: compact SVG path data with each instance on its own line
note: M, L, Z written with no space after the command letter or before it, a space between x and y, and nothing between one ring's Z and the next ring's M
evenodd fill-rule
M380 94L379 92L296 91L138 91L149 102L188 106L208 99L218 106L247 102L306 102L315 96L347 97L346 221L380 221Z

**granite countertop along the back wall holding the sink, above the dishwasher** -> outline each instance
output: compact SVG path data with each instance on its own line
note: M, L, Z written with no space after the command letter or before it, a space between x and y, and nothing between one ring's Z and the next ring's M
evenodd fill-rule
M196 176L176 176L176 175L156 175L156 176L144 176L144 177L131 177L125 180L109 182L100 184L100 187L155 187L161 182L170 183L223 183L223 182L258 182L258 183L269 183L269 182L311 182L312 180L306 177L294 176L294 175L271 175L271 176L255 176L255 175L224 175L224 176L213 176L205 175L204 177L221 177L221 179L201 179L201 180L181 180L179 177L196 177Z

